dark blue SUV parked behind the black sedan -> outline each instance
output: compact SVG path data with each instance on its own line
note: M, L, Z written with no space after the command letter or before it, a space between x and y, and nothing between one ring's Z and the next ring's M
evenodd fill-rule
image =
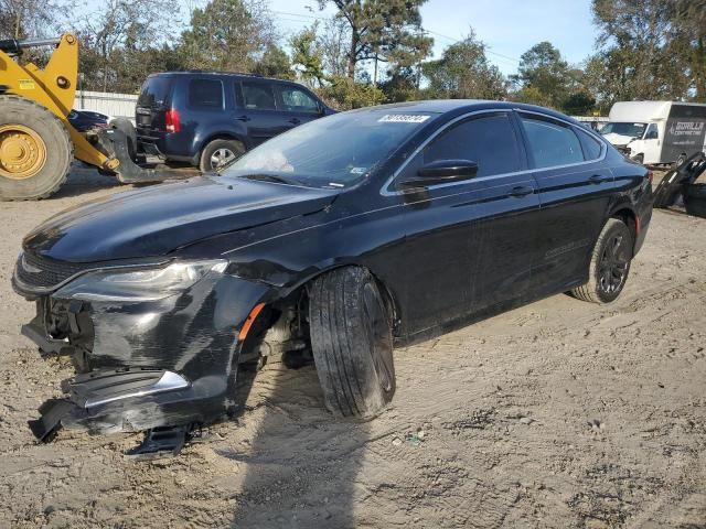
M139 150L214 171L335 110L297 83L227 72L150 75L135 110Z

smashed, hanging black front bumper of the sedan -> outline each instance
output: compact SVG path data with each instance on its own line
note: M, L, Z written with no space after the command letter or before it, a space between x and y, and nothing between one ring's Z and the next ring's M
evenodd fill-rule
M238 332L268 287L208 276L151 302L88 302L44 295L22 333L45 354L71 355L77 375L30 427L90 433L204 424L236 411Z

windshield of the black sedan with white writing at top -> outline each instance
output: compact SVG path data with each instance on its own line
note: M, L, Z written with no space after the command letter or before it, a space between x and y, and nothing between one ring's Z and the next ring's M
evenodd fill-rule
M265 142L223 174L311 187L349 187L435 117L399 108L336 114Z

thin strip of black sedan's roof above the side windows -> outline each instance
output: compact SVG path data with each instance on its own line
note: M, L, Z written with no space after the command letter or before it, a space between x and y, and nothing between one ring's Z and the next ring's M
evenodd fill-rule
M472 112L474 110L484 110L491 108L539 112L563 120L570 120L574 123L580 125L574 118L561 112L557 112L556 110L552 110L549 108L538 107L536 105L526 105L524 102L494 101L490 99L430 99L421 101L393 102L389 105L379 105L377 107L367 107L366 109L361 110L404 110L407 112L466 114Z

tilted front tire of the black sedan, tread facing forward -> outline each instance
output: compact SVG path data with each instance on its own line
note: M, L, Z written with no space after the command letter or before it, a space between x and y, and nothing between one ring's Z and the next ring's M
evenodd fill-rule
M373 417L395 393L389 307L365 269L333 270L309 291L311 347L327 408Z

